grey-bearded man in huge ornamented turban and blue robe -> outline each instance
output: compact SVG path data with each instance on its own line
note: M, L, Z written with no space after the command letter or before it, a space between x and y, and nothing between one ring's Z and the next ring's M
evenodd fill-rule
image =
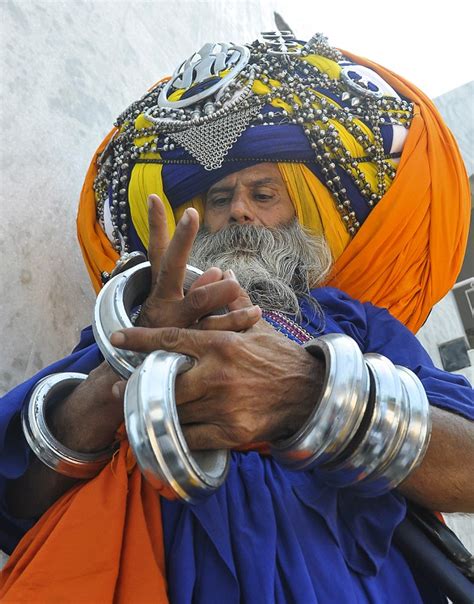
M167 595L173 602L443 601L413 576L392 535L405 515L402 495L431 509L473 509L464 463L473 456L465 419L472 418L472 391L432 367L387 311L314 288L327 281L328 245L336 260L330 283L387 306L416 329L459 268L465 174L456 149L443 145L449 134L431 105L395 76L384 73L397 90L320 36L307 44L279 40L276 54L273 42L210 45L120 116L98 170L93 162L78 221L97 289L120 253L148 250L153 287L142 326L111 343L196 359L176 382L183 432L192 450L238 450L229 475L193 507L160 503L124 440L112 463L86 482L39 459L28 463L15 412L29 404L37 376L5 403L3 476L15 479L4 481L5 544L12 549L43 514L4 571L6 602ZM204 228L197 235L198 213ZM190 255L208 270L183 295ZM222 306L226 315L211 314ZM314 417L315 405L327 403L331 363L297 345L323 333L350 336L362 352L411 368L419 378L413 383L423 385L431 441L410 451L410 469L419 467L397 475L396 491L371 492L368 471L350 484L336 471L348 443L358 450L354 434L338 442L344 455L330 456L332 466L313 451L315 463L300 472L258 444L278 449ZM365 358L377 382L380 358ZM123 383L87 331L76 352L43 375L64 371L89 376L54 407L52 431L70 450L95 455L117 439ZM334 379L344 374L339 369ZM380 386L371 385L374 409ZM401 405L397 396L388 399ZM415 405L417 396L405 403ZM374 417L369 406L368 415L354 410L361 438L370 433L362 425L362 416ZM381 413L381 421L387 417ZM395 458L402 445L393 441L407 438L402 423L386 441ZM378 462L371 461L383 475Z

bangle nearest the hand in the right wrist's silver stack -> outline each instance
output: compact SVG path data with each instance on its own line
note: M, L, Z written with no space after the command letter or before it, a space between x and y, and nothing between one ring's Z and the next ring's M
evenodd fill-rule
M325 360L321 395L304 426L271 448L275 459L293 470L342 454L362 422L369 398L367 367L352 338L329 334L310 340L305 348Z

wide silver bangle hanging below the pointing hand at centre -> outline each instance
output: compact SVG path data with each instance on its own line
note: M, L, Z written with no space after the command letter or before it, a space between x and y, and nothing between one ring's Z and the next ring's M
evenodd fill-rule
M177 375L194 364L188 356L158 350L147 356L127 382L125 425L137 464L156 489L168 487L188 503L212 495L229 469L227 450L193 451L176 411Z

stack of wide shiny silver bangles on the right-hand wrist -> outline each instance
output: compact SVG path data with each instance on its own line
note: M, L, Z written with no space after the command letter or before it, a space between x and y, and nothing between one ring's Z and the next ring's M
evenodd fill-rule
M323 336L307 348L326 361L322 394L303 428L274 443L272 454L293 470L317 466L328 484L361 496L395 488L421 463L429 443L429 402L420 380L382 355L362 356L348 336Z

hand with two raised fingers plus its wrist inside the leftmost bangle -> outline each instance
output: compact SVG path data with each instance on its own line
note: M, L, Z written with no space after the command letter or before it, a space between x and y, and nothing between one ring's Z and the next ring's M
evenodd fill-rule
M254 325L261 311L253 306L230 272L224 274L220 269L210 269L183 294L186 262L199 226L198 214L193 209L187 210L170 241L161 200L150 195L149 202L153 287L140 317L143 324L223 331L240 331ZM205 316L221 306L229 308L226 315ZM113 370L103 363L57 405L51 423L58 440L83 452L110 445L123 422L124 387L113 388L117 379Z

